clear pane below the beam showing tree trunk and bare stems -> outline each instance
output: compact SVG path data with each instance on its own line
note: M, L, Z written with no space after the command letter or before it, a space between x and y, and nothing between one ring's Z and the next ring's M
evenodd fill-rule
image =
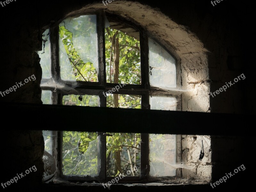
M108 133L107 176L140 176L140 133Z

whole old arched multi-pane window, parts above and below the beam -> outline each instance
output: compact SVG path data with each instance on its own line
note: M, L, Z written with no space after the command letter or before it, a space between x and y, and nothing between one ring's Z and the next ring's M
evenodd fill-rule
M177 60L143 28L116 15L64 19L44 32L39 56L43 104L181 109ZM85 132L51 135L60 176L69 181L111 180L128 170L122 181L176 176L176 135L86 132L86 124Z

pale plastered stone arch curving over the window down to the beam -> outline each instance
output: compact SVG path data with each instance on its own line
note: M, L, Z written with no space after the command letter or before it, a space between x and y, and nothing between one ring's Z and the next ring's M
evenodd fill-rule
M131 1L112 1L106 6L103 3L87 4L69 12L65 18L102 9L140 25L176 57L180 66L178 75L181 76L183 111L210 112L210 52L196 34L186 26L179 25L159 9Z

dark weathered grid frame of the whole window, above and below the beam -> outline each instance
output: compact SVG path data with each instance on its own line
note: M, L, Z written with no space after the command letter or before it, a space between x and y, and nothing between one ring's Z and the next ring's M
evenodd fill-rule
M105 62L105 17L113 17L118 18L118 20L122 21L123 23L127 23L128 25L134 26L139 31L140 36L140 60L141 60L141 84L126 84L126 86L119 90L118 93L112 94L130 94L130 95L140 95L141 96L141 109L150 109L150 101L149 97L152 95L164 95L164 96L172 96L175 97L177 103L181 103L181 96L178 98L178 95L175 92L170 92L166 90L162 90L156 87L150 87L149 82L149 45L148 39L151 38L153 41L158 43L165 51L167 51L175 60L176 66L176 87L179 87L178 84L179 79L181 78L178 76L178 64L176 57L167 50L160 42L158 42L153 36L149 36L148 33L139 25L135 24L134 22L125 20L119 15L106 13L104 11L96 11L96 12L86 12L80 15L96 15L96 26L97 26L97 36L98 36L98 62L99 62L99 74L98 74L98 82L83 82L83 81L76 81L78 86L75 90L78 90L80 93L88 94L88 95L97 95L100 99L99 107L106 107L106 97L103 96L103 92L111 90L118 84L114 83L107 83L106 82L106 62ZM75 16L70 15L69 17ZM61 80L60 76L60 64L59 64L59 23L56 23L50 30L50 48L51 48L51 77L54 81ZM41 84L48 82L50 79L43 79L41 80ZM61 80L67 86L71 87L72 81L65 81ZM62 98L64 95L68 95L67 93L62 92L60 89L54 89L49 87L41 86L42 90L49 90L52 91L52 104L54 105L62 105ZM95 94L95 91L97 94ZM77 92L74 92L77 95ZM72 94L72 91L69 93ZM179 101L178 101L179 100ZM178 105L178 110L181 109L181 105ZM85 130L86 131L86 130ZM72 181L72 182L81 182L81 181L100 181L106 182L113 179L113 177L106 176L106 136L104 136L103 132L98 132L98 166L100 169L98 170L98 176L90 177L90 176L65 176L62 174L62 139L63 134L61 131L53 131L53 156L57 160L57 175L64 180ZM176 144L177 138L180 136L176 135ZM176 151L178 152L177 148ZM178 155L176 155L178 158ZM178 160L176 158L176 161ZM119 182L129 182L129 181L149 181L149 171L150 171L150 164L149 164L149 134L148 133L141 133L141 176L129 176L125 177ZM157 180L154 177L153 180Z

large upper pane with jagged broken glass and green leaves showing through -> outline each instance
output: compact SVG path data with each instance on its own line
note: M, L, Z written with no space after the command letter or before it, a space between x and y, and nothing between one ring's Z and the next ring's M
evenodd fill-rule
M59 35L61 78L97 82L99 56L96 15L63 20Z

